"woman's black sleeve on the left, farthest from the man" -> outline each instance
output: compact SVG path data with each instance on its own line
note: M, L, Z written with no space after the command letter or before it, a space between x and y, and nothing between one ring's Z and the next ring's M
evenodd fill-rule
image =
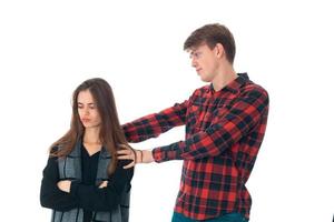
M40 188L40 203L45 208L57 211L69 211L78 208L78 201L69 193L59 190L59 170L57 158L49 158L43 169L43 178Z

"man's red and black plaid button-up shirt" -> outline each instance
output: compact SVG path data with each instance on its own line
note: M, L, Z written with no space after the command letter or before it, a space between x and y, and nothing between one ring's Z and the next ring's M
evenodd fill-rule
M268 94L246 73L215 91L195 90L183 103L122 125L129 142L186 125L185 141L153 150L156 162L184 160L175 211L195 220L239 212L249 218L245 186L263 141Z

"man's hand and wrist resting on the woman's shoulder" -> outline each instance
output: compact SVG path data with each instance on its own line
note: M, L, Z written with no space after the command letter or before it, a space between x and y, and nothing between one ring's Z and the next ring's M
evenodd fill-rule
M129 149L127 145L120 144L120 148L122 150L117 151L118 154L118 160L132 160L131 163L129 163L128 165L125 165L124 169L129 169L135 167L135 164L137 163L151 163L154 162L154 158L151 154L151 151L149 150L135 150L135 152Z

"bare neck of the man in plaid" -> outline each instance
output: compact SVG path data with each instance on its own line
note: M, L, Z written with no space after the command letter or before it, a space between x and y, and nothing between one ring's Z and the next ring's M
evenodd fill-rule
M234 81L237 78L237 73L234 71L230 64L220 65L217 70L215 79L212 81L214 90L219 91Z

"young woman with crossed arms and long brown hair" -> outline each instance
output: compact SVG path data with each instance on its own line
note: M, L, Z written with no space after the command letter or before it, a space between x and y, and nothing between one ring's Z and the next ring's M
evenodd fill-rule
M127 222L134 168L117 160L129 147L112 90L102 79L82 82L72 95L70 130L50 149L40 202L52 222Z

